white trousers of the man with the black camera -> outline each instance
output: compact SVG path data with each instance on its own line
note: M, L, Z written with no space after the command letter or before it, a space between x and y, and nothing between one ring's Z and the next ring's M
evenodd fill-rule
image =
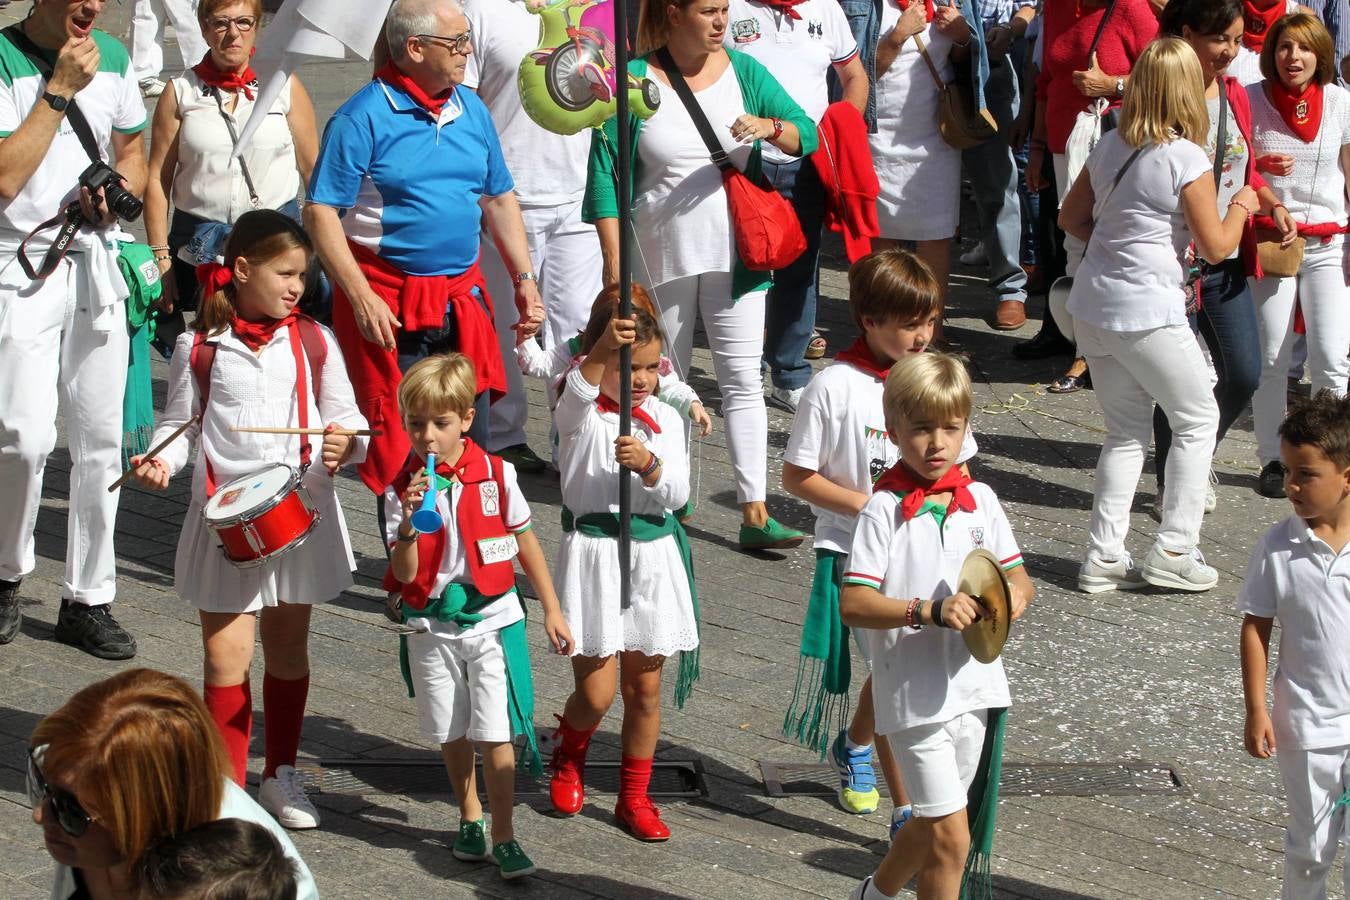
M57 403L70 445L66 575L62 595L112 603L112 532L122 472L122 394L127 385L124 327L93 329L85 258L70 254L30 282L11 258L0 270L0 579L34 569L34 528L42 475L57 445ZM117 321L126 313L119 302Z

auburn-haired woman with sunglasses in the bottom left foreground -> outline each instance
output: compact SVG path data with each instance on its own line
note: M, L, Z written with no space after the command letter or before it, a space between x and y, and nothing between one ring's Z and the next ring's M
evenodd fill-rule
M211 714L182 679L131 669L90 684L32 731L28 800L57 861L54 900L138 897L138 862L204 822L244 819L294 861L297 897L317 897L286 833L230 780Z

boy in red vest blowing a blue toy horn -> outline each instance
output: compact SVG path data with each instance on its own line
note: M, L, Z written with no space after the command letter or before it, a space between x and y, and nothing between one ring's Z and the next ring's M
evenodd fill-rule
M474 364L463 354L420 360L398 385L398 409L412 441L408 466L385 490L390 546L385 588L401 594L408 626L401 663L417 700L423 735L440 743L459 800L458 860L498 866L504 878L535 872L512 830L516 749L524 735L531 768L543 775L535 742L535 691L525 640L525 607L516 568L535 586L544 631L558 653L572 642L548 564L531 530L529 505L510 463L485 452L466 432L474 421ZM427 456L436 455L436 483ZM418 533L413 513L436 494L440 528ZM474 777L474 746L493 811L491 845Z

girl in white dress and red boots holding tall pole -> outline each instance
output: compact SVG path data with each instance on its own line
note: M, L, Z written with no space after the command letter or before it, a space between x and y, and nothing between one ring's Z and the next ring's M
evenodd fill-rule
M633 348L632 371L618 370L618 348ZM582 808L586 749L599 721L624 696L622 761L614 816L640 841L664 841L670 828L647 796L660 734L662 668L680 653L675 685L683 704L698 677L698 596L688 541L671 510L688 497L688 457L679 413L659 402L662 339L641 309L612 318L580 366L567 372L555 422L562 439L563 541L554 583L576 642L576 688L558 716L551 797L554 808ZM620 379L630 378L632 433L618 434ZM632 487L630 596L618 590L618 479ZM626 472L625 472L625 476Z

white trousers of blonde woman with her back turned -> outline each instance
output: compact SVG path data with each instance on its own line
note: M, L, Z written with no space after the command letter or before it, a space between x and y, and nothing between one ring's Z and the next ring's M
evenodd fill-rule
M1073 328L1107 428L1092 490L1088 556L1118 560L1125 553L1130 505L1153 436L1154 402L1172 425L1157 542L1173 553L1191 552L1200 542L1219 428L1219 406L1195 335L1187 325L1111 332L1076 320Z

